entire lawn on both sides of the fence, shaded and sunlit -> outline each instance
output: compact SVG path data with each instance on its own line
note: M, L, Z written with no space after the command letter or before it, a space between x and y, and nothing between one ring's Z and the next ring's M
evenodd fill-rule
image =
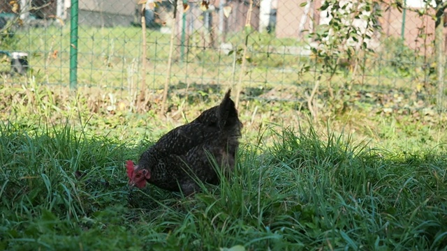
M33 70L1 76L0 250L445 250L447 117L431 66L396 41L358 75L318 75L300 69L323 61L269 51L295 40L251 36L235 172L184 197L129 189L124 163L216 105L240 55L176 54L161 114L166 34L149 36L138 104L140 29L81 27L73 91L68 28L17 33Z

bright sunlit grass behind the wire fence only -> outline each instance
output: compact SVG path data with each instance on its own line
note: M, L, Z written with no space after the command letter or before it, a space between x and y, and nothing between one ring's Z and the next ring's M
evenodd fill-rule
M244 33L228 33L227 42L233 49L242 49ZM68 84L70 63L70 27L48 26L45 28L19 29L11 43L1 43L0 49L19 50L29 53L31 76L38 84ZM168 73L166 62L169 52L169 34L159 31L147 32L147 77L149 89L163 86ZM142 73L142 47L140 27L95 28L79 27L78 85L97 86L108 89L135 89L140 84ZM240 75L240 65L233 70L233 61L241 55L220 53L216 48L203 43L203 34L189 36L184 58L180 58L179 41L175 41L175 53L171 76L173 85L184 83L233 85ZM324 85L345 88L346 84L356 89L374 86L381 91L392 89L416 89L423 84L434 83L432 57L418 56L402 41L383 38L381 48L368 54L365 62L360 60L356 74L353 63L340 64L337 73L329 80L329 73L320 73L325 62L315 56L300 56L288 52L286 47L306 47L291 38L275 38L274 34L253 32L247 40L249 61L242 77L243 86L305 86L322 77ZM0 70L8 72L9 63L0 63ZM335 66L335 61L332 62ZM303 69L309 68L308 72ZM0 76L1 77L1 76ZM24 77L1 77L4 83L25 83ZM0 81L1 81L0 80ZM433 93L435 93L433 91ZM251 97L254 98L254 97Z

